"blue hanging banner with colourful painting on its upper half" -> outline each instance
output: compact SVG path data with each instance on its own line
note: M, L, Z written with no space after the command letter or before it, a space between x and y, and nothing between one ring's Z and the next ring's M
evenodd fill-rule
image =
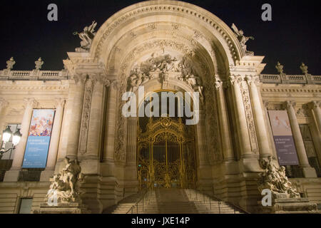
M52 109L35 109L32 113L23 168L46 167L54 115Z

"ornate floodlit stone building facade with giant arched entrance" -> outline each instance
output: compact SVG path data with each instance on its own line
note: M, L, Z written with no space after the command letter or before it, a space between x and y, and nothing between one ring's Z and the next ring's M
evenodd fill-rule
M94 213L141 187L139 118L122 115L123 93L200 92L195 135L195 185L250 212L260 212L260 161L277 161L267 110L287 110L300 165L287 167L297 190L321 203L321 76L302 65L290 76L261 74L264 56L215 15L181 1L145 1L92 24L62 71L0 71L0 126L21 125L22 138L1 171L0 212L19 212L20 199L39 209L65 157L78 159L83 203ZM164 63L164 64L162 64ZM138 100L141 104L143 100ZM55 109L44 170L21 168L32 111ZM308 133L305 134L304 132ZM310 134L310 135L309 135ZM312 160L314 157L314 160ZM25 175L22 175L25 174ZM39 174L39 177L33 175ZM33 181L30 181L31 178ZM33 179L34 178L34 179Z

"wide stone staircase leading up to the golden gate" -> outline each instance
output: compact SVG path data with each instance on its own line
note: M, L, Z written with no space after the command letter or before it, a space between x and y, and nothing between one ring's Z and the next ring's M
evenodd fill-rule
M104 213L111 214L242 214L239 209L195 190L161 189L132 195ZM141 199L140 202L138 200ZM138 202L138 203L137 203ZM134 207L133 207L134 206Z

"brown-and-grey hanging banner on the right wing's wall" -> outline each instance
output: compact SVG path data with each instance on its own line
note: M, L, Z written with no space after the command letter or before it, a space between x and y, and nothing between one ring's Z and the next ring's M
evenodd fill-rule
M268 113L280 165L299 165L287 111L270 110Z

